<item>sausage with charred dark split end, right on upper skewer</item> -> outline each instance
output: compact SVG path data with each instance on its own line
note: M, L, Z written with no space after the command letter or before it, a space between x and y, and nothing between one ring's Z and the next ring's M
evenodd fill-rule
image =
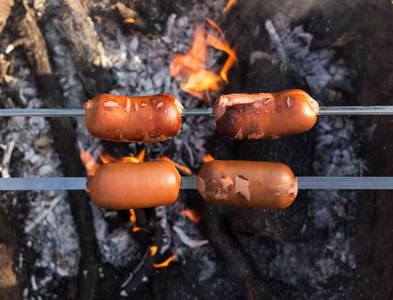
M217 129L234 140L305 132L314 126L318 110L318 102L302 90L223 95L213 105Z

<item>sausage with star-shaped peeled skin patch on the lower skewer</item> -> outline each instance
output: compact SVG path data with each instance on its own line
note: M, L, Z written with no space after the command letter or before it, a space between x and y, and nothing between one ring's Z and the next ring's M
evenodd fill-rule
M197 188L207 202L243 207L282 209L297 195L297 178L282 163L220 161L205 163Z

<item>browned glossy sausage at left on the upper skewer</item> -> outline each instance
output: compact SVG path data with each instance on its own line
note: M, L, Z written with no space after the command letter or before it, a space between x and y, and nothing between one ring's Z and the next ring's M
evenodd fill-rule
M126 97L101 94L87 101L86 128L102 140L153 143L180 132L183 105L174 97L159 94Z

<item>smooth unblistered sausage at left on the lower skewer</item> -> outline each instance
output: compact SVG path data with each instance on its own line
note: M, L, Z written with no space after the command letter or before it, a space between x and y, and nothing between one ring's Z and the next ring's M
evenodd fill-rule
M90 198L108 209L167 205L179 196L181 177L167 161L101 165L87 182Z

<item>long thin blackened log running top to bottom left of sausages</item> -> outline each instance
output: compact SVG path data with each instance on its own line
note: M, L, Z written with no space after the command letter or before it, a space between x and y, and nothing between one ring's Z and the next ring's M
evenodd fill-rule
M48 108L64 107L64 98L58 77L52 73L45 40L27 4L18 2L13 15L19 38L28 58L42 99ZM81 176L84 167L79 158L75 134L70 119L49 119L55 145L66 177ZM100 261L93 216L88 196L83 191L69 191L69 201L79 235L81 261L79 265L78 299L93 299L97 289Z

